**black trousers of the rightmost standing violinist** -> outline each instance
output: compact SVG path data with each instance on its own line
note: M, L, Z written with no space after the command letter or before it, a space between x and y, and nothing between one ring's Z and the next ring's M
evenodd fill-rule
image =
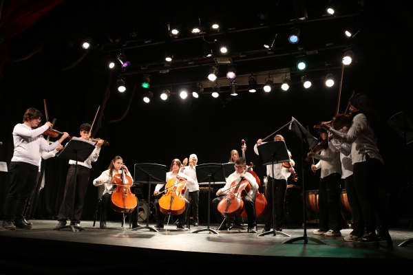
M364 227L374 232L376 225L387 228L384 209L379 200L379 182L383 164L379 159L366 155L365 162L354 164L353 177L357 199L363 213Z

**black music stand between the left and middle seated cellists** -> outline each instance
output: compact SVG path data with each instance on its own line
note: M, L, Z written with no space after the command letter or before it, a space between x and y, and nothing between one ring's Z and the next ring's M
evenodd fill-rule
M148 184L148 210L151 203L151 184L165 184L167 179L167 166L162 164L135 164L134 183ZM131 231L141 229L149 229L154 232L159 232L155 228L149 226L149 211L147 217L147 225L139 228L133 228Z

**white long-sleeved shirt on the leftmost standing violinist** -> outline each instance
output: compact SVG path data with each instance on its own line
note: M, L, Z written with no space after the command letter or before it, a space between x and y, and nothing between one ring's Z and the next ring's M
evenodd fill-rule
M43 138L44 133L49 126L47 124L32 129L26 124L17 124L13 129L14 153L12 162L27 162L35 166L39 166L39 159L41 157L40 150L50 152L53 151L59 142L49 144Z

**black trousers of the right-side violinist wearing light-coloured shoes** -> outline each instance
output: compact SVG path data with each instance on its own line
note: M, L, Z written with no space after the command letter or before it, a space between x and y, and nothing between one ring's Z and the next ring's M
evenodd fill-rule
M320 230L341 230L341 210L340 200L340 179L339 173L332 173L324 179L320 178L319 187L319 210L320 210Z

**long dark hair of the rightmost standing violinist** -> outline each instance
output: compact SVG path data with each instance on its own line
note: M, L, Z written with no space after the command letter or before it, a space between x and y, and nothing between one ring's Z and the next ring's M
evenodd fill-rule
M367 121L372 127L374 135L377 138L381 137L381 127L379 114L374 110L372 104L366 94L356 94L350 98L350 104L356 109L359 110L359 113L366 115Z

